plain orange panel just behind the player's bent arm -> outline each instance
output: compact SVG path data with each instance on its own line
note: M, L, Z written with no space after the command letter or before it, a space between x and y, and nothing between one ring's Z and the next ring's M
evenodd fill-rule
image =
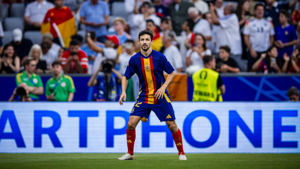
M187 101L187 74L176 74L167 90L171 101Z

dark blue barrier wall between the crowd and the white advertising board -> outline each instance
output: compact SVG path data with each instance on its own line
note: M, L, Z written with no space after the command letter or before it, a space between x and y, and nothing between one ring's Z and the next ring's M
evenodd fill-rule
M97 93L97 88L87 86L90 75L70 74L70 76L72 76L76 88L74 101L91 101L94 93ZM50 77L49 75L41 76L44 86ZM293 76L289 74L222 74L222 79L226 86L226 93L223 95L224 101L283 101L289 100L286 93L291 86L300 89L300 76L298 74ZM0 75L0 81L0 101L7 101L16 87L15 76ZM192 101L193 83L191 77L187 77L186 88L188 98L185 100ZM172 91L177 90L171 88L169 92L172 93ZM183 90L182 87L180 90ZM121 85L119 85L118 91L121 91ZM45 101L46 97L42 95L40 100ZM174 99L171 98L171 100Z

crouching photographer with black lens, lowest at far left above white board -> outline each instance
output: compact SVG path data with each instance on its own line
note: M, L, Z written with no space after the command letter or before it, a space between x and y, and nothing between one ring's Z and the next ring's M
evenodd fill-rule
M26 90L25 87L26 85L20 84L19 87L15 88L8 101L32 102L32 99L29 97L29 90Z

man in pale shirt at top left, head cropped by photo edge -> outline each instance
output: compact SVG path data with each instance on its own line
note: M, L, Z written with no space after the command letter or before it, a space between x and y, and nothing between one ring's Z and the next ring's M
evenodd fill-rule
M30 2L24 13L25 31L40 30L47 11L54 5L46 0Z

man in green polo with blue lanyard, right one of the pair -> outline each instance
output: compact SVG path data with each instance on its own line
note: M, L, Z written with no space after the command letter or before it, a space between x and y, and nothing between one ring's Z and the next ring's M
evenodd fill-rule
M71 102L75 93L73 79L61 73L61 62L54 61L52 63L53 77L46 83L45 95L48 101Z

